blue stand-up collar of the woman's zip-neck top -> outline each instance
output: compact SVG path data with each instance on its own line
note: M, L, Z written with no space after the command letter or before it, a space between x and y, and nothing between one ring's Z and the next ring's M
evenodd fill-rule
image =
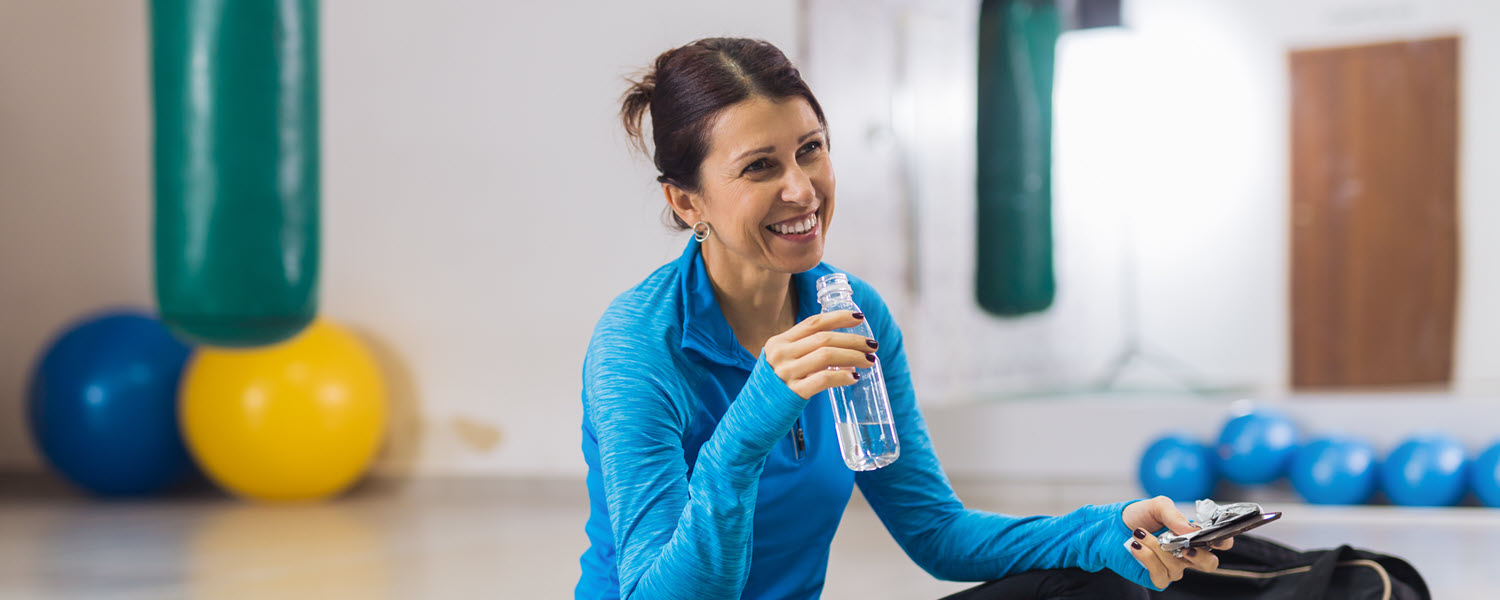
M676 266L682 298L682 351L693 351L717 364L754 369L759 357L750 356L735 339L735 332L724 320L724 310L714 296L714 284L708 279L708 267L704 264L702 243L688 238ZM822 312L822 306L818 304L818 278L832 272L832 267L819 262L807 272L792 274L798 322Z

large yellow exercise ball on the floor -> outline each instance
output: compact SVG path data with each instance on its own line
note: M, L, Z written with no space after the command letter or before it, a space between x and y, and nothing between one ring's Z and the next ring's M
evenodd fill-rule
M183 440L198 466L248 498L334 495L369 468L386 436L375 360L326 320L270 346L200 346L180 392Z

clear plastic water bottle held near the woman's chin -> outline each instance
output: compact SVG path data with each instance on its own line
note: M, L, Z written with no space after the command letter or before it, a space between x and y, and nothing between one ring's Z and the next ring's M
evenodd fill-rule
M818 303L824 306L824 312L860 312L849 278L843 273L818 279ZM838 332L874 339L867 321ZM902 456L902 446L896 440L896 420L891 418L891 399L885 393L880 358L874 360L874 366L856 368L855 372L860 374L860 381L828 388L828 399L834 405L834 429L838 432L844 464L855 471L872 471L896 462Z

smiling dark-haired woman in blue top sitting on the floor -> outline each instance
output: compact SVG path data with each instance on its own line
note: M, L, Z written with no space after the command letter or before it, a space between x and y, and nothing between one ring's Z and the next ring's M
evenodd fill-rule
M813 282L832 272L820 262L828 128L780 50L704 39L666 51L621 108L642 150L648 111L657 178L693 240L615 298L584 362L592 513L578 598L818 597L854 484L928 573L992 580L962 597L1144 597L1218 564L1160 549L1152 531L1194 530L1166 498L1024 519L963 507L880 296L850 276L866 314L819 314ZM836 332L861 320L876 339ZM822 392L858 376L831 368L876 357L902 456L856 474Z

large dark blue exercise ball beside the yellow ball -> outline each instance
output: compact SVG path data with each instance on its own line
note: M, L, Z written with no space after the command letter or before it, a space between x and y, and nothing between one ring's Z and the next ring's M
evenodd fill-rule
M87 316L32 372L27 422L46 462L99 495L146 495L194 472L177 428L189 348L144 312Z

